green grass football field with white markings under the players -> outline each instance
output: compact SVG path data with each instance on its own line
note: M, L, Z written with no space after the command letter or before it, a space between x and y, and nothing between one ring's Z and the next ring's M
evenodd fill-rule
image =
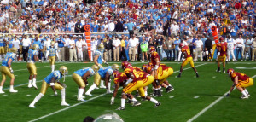
M192 68L187 65L183 68L181 78L176 78L179 73L181 62L166 62L172 67L174 73L168 81L175 90L166 93L163 89L163 96L155 97L161 102L161 106L154 108L153 102L141 101L141 106L132 107L131 104L125 103L125 110L115 110L120 106L121 90L115 98L113 105L110 105L112 94L107 94L106 90L93 90L93 96L86 96L85 102L77 101L78 85L73 81L71 75L74 71L83 67L91 67L93 63L71 63L56 62L55 70L62 65L68 68L68 75L65 81L66 102L70 107L61 106L61 92L57 90L58 96L54 96L53 90L49 88L46 94L35 106L30 108L28 105L41 89L42 80L50 73L50 65L48 62L36 63L38 69L37 85L38 90L28 88L28 71L25 62L13 62L12 67L15 74L15 90L18 93L9 93L9 78L3 85L5 94L0 94L0 121L83 121L84 117L91 116L96 118L104 113L117 113L125 122L234 122L246 121L253 122L256 120L256 89L250 86L247 90L250 93L249 99L240 99L241 92L234 90L229 97L225 97L225 93L230 90L232 82L227 73L216 73L217 64L215 62L195 62L195 67L200 75L195 78ZM112 65L109 63L109 65ZM119 64L119 71L122 71ZM133 66L142 67L141 62L131 62ZM105 65L106 66L106 65ZM256 62L229 62L228 68L234 68L236 72L247 74L256 80ZM222 67L221 67L222 69ZM1 76L2 79L2 76ZM61 79L61 82L63 78ZM94 81L94 77L88 79L89 86ZM113 80L112 80L113 85ZM111 88L113 90L113 88ZM148 93L152 93L151 86Z

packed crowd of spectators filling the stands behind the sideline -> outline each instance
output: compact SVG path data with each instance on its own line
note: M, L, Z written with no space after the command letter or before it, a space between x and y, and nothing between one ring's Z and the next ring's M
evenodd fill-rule
M234 39L234 61L243 58L253 61L255 19L254 0L101 0L90 4L82 0L3 0L0 4L0 33L9 33L8 37L3 37L5 43L12 46L9 43L15 40L12 33L25 35L18 37L17 44L20 42L21 47L24 37L31 39L31 44L38 37L43 54L47 40L54 40L66 54L70 48L67 40L73 40L73 48L83 48L83 58L88 57L84 37L65 34L83 33L84 25L90 25L90 32L129 32L92 38L96 42L92 46L105 44L107 61L146 61L145 44L155 46L161 59L166 54L168 60L180 61L182 56L177 45L181 42L187 42L194 57L199 55L203 60L207 39L212 37L212 26L217 26L219 36L225 40L228 36ZM49 35L26 36L30 33ZM79 38L84 42L82 46L76 45ZM77 57L77 54L72 56ZM62 61L73 61L69 56L63 57L68 59ZM80 61L88 60L79 58Z

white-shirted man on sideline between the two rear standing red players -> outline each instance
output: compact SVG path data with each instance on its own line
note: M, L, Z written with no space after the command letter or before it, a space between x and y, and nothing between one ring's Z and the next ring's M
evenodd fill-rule
M201 59L201 61L203 61L202 51L203 51L204 44L202 43L201 38L197 37L194 44L195 44L195 59L194 59L194 61L197 61L198 55L200 55L200 59Z

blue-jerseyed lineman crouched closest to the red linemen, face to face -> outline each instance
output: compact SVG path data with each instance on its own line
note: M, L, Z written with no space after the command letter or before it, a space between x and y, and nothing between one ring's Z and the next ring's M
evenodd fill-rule
M87 96L92 96L90 92L100 84L101 80L105 80L105 85L107 89L107 93L113 93L110 88L111 88L111 80L110 76L112 75L113 71L119 70L119 66L117 64L113 64L112 67L103 67L98 70L98 72L95 74L95 80L94 84L92 84L89 88L89 90L86 91L85 95Z

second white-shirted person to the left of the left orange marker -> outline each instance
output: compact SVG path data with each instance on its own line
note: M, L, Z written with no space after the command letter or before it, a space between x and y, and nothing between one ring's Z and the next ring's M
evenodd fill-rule
M76 36L73 36L73 39L69 41L69 61L77 61L77 52L76 52L76 46L75 46L75 40ZM74 60L73 60L74 58Z

